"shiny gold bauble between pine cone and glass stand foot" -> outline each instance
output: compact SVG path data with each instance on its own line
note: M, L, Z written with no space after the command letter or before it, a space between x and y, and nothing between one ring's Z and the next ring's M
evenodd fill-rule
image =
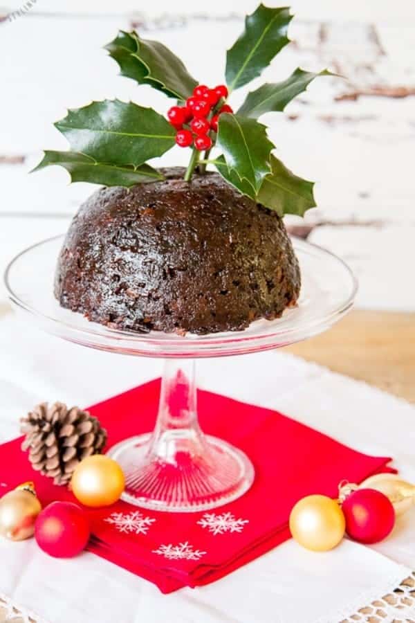
M81 461L71 480L75 498L91 507L113 504L120 499L124 486L124 473L119 464L102 454Z

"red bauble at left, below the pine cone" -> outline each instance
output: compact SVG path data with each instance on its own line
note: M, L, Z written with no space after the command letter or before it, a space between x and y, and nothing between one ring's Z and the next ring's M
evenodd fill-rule
M91 530L86 512L72 502L53 502L39 514L35 539L55 558L72 558L84 550Z

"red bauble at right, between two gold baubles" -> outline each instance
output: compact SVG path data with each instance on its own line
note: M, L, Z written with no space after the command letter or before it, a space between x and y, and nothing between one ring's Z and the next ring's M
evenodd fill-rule
M357 489L342 503L346 532L359 543L378 543L395 525L395 510L389 498L375 489Z

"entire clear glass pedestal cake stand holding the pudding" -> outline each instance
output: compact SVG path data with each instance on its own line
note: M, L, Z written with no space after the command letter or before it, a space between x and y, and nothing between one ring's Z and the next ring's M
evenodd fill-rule
M282 318L206 336L138 334L90 323L59 306L53 277L63 239L62 235L39 242L10 262L5 282L15 309L46 332L83 346L165 358L154 431L124 440L109 451L125 474L122 499L149 509L192 512L239 498L252 485L254 468L239 449L201 431L194 361L269 350L328 329L353 305L357 283L349 267L328 251L294 239L302 292L298 306L287 309Z

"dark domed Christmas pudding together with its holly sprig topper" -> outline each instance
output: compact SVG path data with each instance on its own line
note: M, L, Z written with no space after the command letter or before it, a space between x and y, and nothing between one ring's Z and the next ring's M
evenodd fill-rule
M107 46L122 75L178 103L165 117L104 100L56 123L72 149L45 152L38 168L59 164L72 181L104 185L59 255L62 307L117 329L207 334L296 305L299 266L282 217L315 206L313 183L277 159L258 119L283 111L317 74L296 69L248 93L239 110L228 103L288 43L291 19L287 8L260 5L227 53L226 84L212 89L136 32ZM148 164L175 145L189 151L187 169Z

